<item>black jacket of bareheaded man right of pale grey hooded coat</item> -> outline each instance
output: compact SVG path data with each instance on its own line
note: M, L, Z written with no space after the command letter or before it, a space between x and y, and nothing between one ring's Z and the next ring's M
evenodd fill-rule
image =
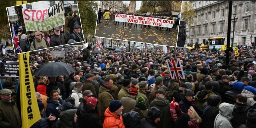
M237 128L241 124L245 124L247 112L249 109L250 106L247 104L235 103L235 107L232 113L234 117L230 120L233 128Z

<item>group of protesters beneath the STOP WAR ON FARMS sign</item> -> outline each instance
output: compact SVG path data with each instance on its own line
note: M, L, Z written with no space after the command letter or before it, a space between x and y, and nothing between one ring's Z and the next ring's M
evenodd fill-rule
M14 24L14 30L19 35L22 52L29 52L43 48L67 45L75 42L84 42L81 29L80 15L76 11L65 13L65 25L53 28L49 31L25 31L25 27Z

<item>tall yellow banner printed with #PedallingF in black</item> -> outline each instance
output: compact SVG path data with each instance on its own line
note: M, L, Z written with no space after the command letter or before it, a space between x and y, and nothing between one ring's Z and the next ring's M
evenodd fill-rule
M41 119L41 115L29 67L29 52L19 54L19 73L22 128L30 128Z

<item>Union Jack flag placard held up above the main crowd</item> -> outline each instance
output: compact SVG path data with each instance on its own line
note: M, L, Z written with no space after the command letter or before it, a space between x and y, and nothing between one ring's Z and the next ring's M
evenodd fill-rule
M177 78L179 78L179 80L185 80L185 75L179 58L167 60L167 65L172 80L177 80Z

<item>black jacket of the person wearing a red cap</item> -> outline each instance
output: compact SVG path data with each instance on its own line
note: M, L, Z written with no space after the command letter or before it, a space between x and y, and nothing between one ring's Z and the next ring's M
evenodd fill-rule
M87 105L80 110L79 127L86 128L102 128L103 125L99 117L97 117L95 110Z

